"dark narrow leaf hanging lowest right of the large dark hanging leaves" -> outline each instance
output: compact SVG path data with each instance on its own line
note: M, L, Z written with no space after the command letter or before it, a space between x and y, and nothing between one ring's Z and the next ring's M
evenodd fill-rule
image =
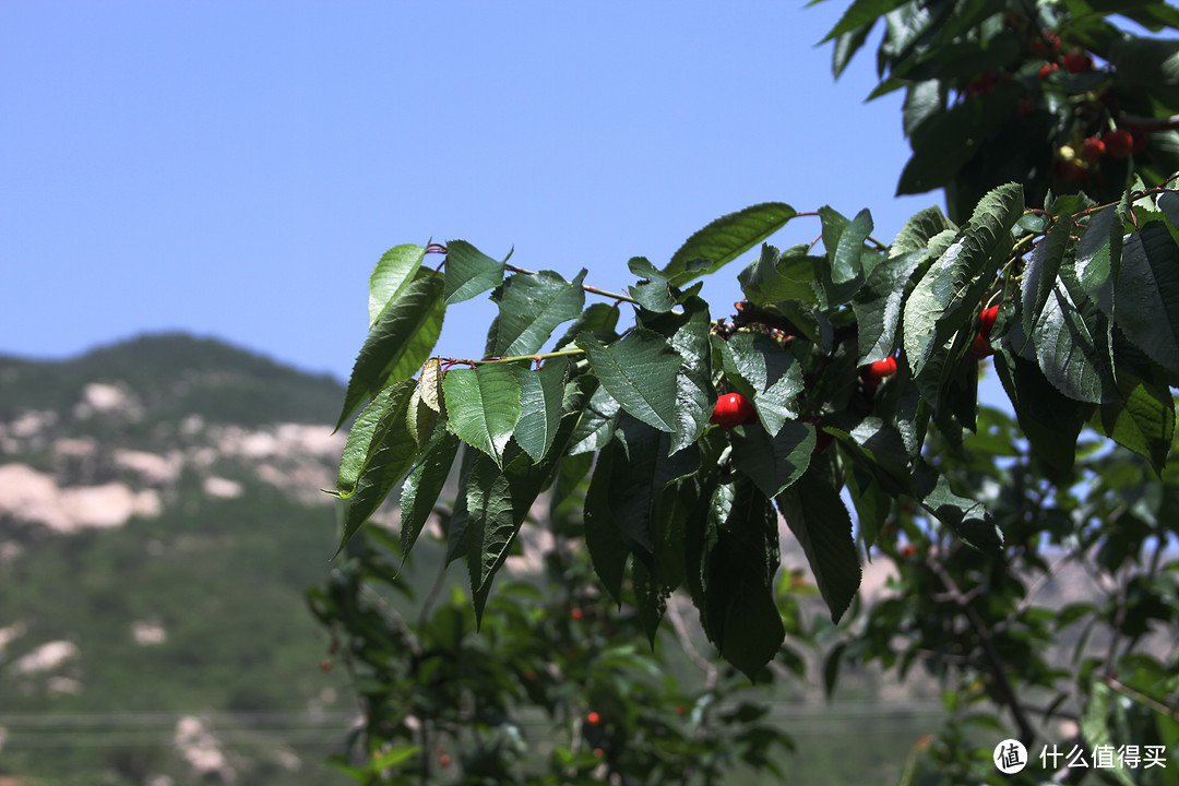
M812 470L775 501L803 547L831 621L838 622L859 590L862 575L851 519L839 493Z

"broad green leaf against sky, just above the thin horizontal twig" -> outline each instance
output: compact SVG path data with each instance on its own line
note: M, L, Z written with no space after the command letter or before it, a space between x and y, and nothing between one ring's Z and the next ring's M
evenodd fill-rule
M535 276L516 273L503 282L494 357L539 352L556 325L577 318L585 308L582 270L573 282L542 270Z

